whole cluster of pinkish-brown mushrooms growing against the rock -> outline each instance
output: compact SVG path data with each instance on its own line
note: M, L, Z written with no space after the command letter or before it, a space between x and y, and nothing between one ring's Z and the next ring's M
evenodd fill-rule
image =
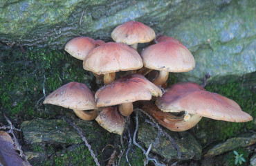
M48 95L44 104L73 109L82 120L95 119L107 131L120 135L125 117L133 112L133 102L140 100L149 101L141 102L143 109L172 131L190 129L203 116L230 122L253 119L236 102L205 91L198 84L174 84L163 94L161 86L166 86L170 72L187 72L195 67L193 55L179 40L167 36L155 39L154 30L138 21L117 26L111 37L114 42L107 43L75 37L65 46L67 53L83 61L84 70L95 75L99 86L95 95L85 84L70 82ZM156 44L139 54L138 43L153 39ZM156 76L149 78L153 72ZM152 96L157 98L156 104Z

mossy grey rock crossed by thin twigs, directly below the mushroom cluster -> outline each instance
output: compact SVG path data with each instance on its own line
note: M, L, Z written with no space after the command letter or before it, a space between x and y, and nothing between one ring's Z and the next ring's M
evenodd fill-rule
M164 136L158 137L158 130L152 127L151 124L147 124L146 122L139 124L138 140L143 142L147 148L153 143L151 151L166 160L199 160L201 158L202 147L190 133L177 133L172 131L167 131L167 133L174 138L176 144L179 146L181 158L178 158L177 151L172 145L172 142Z

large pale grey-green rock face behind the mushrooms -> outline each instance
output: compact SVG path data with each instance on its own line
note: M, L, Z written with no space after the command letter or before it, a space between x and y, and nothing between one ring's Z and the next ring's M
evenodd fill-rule
M113 28L136 20L181 40L192 51L196 68L175 75L179 81L201 83L205 73L221 80L256 71L255 6L254 0L4 0L0 43L63 49L80 35L110 41Z

